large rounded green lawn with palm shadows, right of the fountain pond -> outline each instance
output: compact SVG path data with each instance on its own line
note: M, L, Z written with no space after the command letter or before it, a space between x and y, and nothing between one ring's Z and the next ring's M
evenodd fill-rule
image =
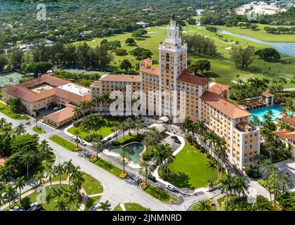
M196 189L208 185L211 169L206 169L208 160L195 147L188 143L176 155L171 164L171 184L178 188ZM214 169L213 181L217 179L217 170Z

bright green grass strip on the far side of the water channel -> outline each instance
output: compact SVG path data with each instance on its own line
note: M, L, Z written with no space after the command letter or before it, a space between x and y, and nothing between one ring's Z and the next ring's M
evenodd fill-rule
M251 30L245 27L226 27L226 26L214 26L220 30L228 30L229 32L235 34L247 35L261 41L269 42L295 42L295 34L268 34L263 30L264 27L280 27L275 25L264 25L257 24L259 30ZM287 25L282 25L281 27L291 27Z

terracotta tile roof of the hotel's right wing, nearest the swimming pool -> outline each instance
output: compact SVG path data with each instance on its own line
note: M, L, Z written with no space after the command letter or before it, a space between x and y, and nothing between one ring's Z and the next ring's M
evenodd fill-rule
M231 119L250 116L247 110L240 108L239 105L231 103L223 96L220 96L212 91L205 91L201 97L202 101L209 103L217 110L221 111Z

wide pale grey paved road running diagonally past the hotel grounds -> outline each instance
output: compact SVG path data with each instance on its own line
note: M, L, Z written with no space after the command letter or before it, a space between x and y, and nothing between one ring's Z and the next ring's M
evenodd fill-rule
M10 117L6 117L5 115L1 115L1 117L5 117L8 122L13 123L13 127L18 126L20 123L25 124L25 121L13 120ZM34 127L34 120L31 120L32 124L26 125L26 130L29 134L36 134L32 128ZM145 207L149 207L151 210L157 211L181 211L186 210L190 205L196 203L199 200L208 198L208 193L197 193L197 195L193 196L181 196L179 198L179 202L176 204L162 203L159 200L152 198L150 195L143 193L140 191L138 186L133 184L129 184L128 180L119 179L117 176L113 176L109 172L101 169L100 167L94 165L89 162L85 158L81 157L81 153L71 152L66 150L65 148L59 146L57 143L49 140L50 136L54 134L58 134L67 139L70 139L69 136L63 133L63 131L55 130L52 127L47 126L46 124L41 124L39 122L39 126L42 127L46 134L39 134L40 141L46 139L48 141L49 146L53 148L53 152L56 155L55 165L58 163L66 162L68 160L72 160L73 165L81 167L81 171L90 174L95 179L98 179L104 188L104 194L102 200L110 200L110 203L113 207L118 205L119 203L139 203L140 205L144 205ZM26 186L24 190L32 188L32 186ZM210 193L213 195L214 193ZM218 194L218 193L216 193ZM96 208L94 209L96 210Z

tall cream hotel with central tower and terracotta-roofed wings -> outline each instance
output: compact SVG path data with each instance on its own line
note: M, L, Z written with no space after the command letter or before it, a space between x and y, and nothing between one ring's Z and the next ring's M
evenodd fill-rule
M187 44L182 45L179 28L172 17L166 40L159 44L159 68L152 66L151 59L146 59L140 62L140 76L105 75L91 85L91 99L110 91L125 91L127 84L132 85L132 91L140 89L146 96L148 91L162 91L172 101L166 103L162 95L158 99L159 94L155 94L152 114L160 107L162 115L170 118L182 113L193 121L204 120L209 129L225 139L233 164L237 167L251 164L254 155L260 153L260 130L250 124L251 113L228 101L229 86L209 87L209 79L196 76L187 67L187 57ZM181 95L185 102L181 102ZM147 105L148 101L147 98ZM177 111L172 110L173 103ZM100 110L108 110L108 105Z

